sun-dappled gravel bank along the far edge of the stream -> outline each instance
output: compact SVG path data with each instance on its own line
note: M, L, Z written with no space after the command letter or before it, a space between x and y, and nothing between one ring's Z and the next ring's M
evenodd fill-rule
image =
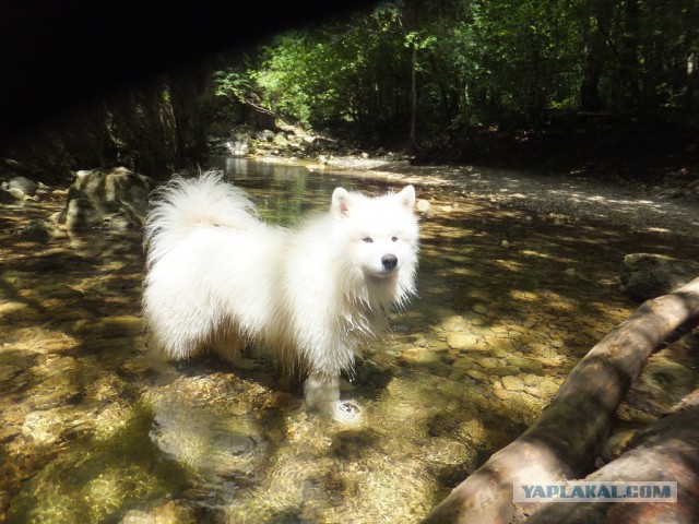
M416 167L405 160L390 159L345 157L330 165L418 186L451 187L473 198L536 214L699 239L699 201L692 195L672 198L666 188L476 166Z

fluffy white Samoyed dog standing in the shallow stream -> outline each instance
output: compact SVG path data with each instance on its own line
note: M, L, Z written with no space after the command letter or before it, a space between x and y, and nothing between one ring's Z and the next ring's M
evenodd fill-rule
M415 294L415 190L369 198L337 188L329 213L298 227L258 219L245 191L218 172L175 178L145 224L143 315L165 359L205 350L236 360L249 344L306 378L310 408L360 417L340 400L341 373Z

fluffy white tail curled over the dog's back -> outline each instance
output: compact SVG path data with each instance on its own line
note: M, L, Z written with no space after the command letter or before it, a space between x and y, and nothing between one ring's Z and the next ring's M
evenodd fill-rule
M198 227L246 229L256 223L254 204L242 189L225 182L221 171L176 176L151 200L143 234L147 265Z

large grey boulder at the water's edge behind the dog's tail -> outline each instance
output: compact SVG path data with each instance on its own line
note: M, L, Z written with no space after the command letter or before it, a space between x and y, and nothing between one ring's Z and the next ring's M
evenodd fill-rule
M141 227L155 181L126 167L75 174L58 223L69 230Z

